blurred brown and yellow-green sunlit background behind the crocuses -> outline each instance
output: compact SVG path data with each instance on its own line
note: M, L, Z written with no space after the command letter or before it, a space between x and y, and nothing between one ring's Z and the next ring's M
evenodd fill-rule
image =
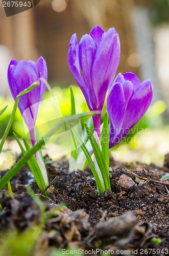
M14 103L7 81L10 59L36 61L42 55L62 114L68 115L70 98L67 88L76 84L67 64L69 40L74 33L80 40L95 25L105 31L115 27L119 34L121 54L116 74L133 72L141 81L151 78L154 87L147 114L128 135L126 143L119 143L111 154L123 162L162 165L164 155L169 151L168 0L41 0L34 8L10 17L6 17L1 1L0 110L7 104L8 108L0 118L0 136L5 131ZM74 91L78 111L87 111L80 89L75 87ZM47 97L50 97L49 93L46 93ZM46 116L48 112L46 106ZM19 111L4 147L10 152L3 152L0 157L1 169L8 168L11 165L9 158L13 161L15 152L19 153L12 131L25 136ZM55 150L59 150L58 147Z

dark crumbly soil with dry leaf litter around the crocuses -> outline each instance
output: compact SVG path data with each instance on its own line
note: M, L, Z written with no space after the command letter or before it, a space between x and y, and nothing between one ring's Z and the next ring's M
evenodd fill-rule
M89 167L84 172L68 174L66 159L46 167L50 182L59 177L50 187L50 199L44 202L46 212L61 203L65 203L67 208L46 222L44 239L38 246L46 240L46 248L77 245L84 249L128 249L130 255L134 255L133 249L138 249L139 255L142 248L154 248L156 253L150 255L167 254L162 249L168 249L169 245L169 186L155 182L164 175L162 168L140 163L131 166L112 159L111 190L99 195ZM168 170L167 161L164 170ZM5 173L1 172L1 175ZM0 229L8 227L22 231L40 223L39 207L28 195L25 184L30 184L36 194L40 191L27 165L11 180L11 184L12 198L9 198L7 190L0 193L3 207ZM49 236L51 230L55 231L53 236ZM161 243L155 245L153 238L160 238Z

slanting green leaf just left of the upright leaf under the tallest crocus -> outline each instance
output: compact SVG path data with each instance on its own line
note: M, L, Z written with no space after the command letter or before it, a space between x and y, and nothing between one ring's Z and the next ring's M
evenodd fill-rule
M108 170L107 170L107 165L106 165L105 159L103 157L103 154L102 154L102 152L100 150L100 147L99 147L98 143L96 142L92 132L90 131L89 127L87 126L86 123L84 123L84 124L85 124L85 127L86 127L86 132L87 132L88 139L90 140L91 146L93 148L93 153L95 155L96 162L99 165L99 168L100 168L100 171L101 171L101 174L102 174L102 177L103 177L103 181L104 181L104 184L105 184L105 189L106 190L111 189Z

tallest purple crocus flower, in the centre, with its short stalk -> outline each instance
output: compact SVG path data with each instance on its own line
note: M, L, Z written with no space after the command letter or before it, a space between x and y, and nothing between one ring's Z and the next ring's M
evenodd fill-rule
M86 99L89 110L102 111L107 90L118 67L120 42L114 28L104 32L99 26L80 40L71 36L68 65ZM81 71L82 75L81 76ZM100 118L93 116L94 130L100 138Z

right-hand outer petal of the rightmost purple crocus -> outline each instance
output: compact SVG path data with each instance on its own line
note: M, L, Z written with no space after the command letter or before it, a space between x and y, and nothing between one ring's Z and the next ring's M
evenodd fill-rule
M147 79L140 84L139 89L128 103L123 124L124 131L131 129L146 113L152 101L152 97L153 88L151 80Z

